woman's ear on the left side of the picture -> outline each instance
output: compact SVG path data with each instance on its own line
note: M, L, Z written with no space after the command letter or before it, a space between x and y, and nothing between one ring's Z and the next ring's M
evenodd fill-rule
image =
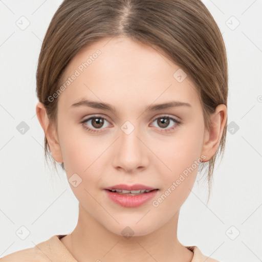
M43 129L43 132L45 132L45 135L47 137L52 157L55 159L56 162L62 163L63 159L61 154L61 148L58 142L58 136L55 130L55 126L53 123L49 122L46 108L41 102L38 102L36 104L36 115Z

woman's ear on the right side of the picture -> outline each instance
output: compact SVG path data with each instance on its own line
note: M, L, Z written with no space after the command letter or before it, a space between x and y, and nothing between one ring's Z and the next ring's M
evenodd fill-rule
M215 112L210 116L210 132L205 130L202 154L206 156L205 161L209 161L219 147L219 142L223 135L223 130L227 120L227 106L220 104L215 108Z

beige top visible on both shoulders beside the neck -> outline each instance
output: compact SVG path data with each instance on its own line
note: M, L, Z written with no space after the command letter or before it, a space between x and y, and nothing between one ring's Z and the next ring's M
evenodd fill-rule
M0 258L0 262L77 262L69 250L60 241L65 235L54 235L47 241L37 244L33 248L16 251ZM198 247L186 246L194 255L191 262L219 262L201 253Z

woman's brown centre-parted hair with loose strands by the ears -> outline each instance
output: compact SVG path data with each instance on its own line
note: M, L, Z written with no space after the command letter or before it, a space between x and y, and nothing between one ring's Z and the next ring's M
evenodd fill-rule
M219 104L227 106L228 69L222 34L200 0L64 0L43 40L36 74L36 93L56 125L57 101L48 99L62 83L70 60L104 37L126 36L161 50L193 80L203 107L205 128ZM208 165L210 186L217 155L224 154L226 126ZM45 158L51 158L45 137ZM63 163L61 164L64 169Z

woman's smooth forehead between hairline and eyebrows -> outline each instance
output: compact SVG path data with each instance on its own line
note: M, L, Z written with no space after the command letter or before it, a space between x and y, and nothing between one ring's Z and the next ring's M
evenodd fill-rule
M71 60L58 104L65 110L86 98L130 109L173 99L200 106L189 77L178 81L181 70L149 45L125 37L103 38Z

